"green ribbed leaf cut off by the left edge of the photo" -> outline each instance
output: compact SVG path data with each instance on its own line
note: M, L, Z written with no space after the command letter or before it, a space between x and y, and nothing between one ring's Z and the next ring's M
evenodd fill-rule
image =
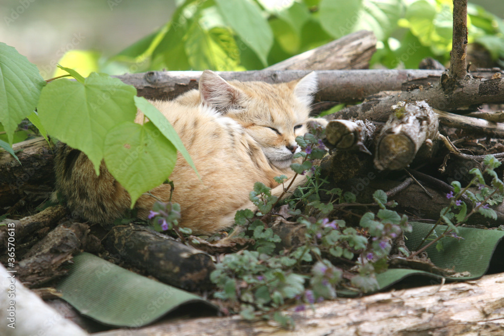
M21 120L35 110L45 84L35 64L0 42L0 123L9 144L13 144Z

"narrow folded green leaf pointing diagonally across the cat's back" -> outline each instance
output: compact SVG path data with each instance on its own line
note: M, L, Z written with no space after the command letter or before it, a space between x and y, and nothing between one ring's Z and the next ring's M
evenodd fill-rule
M198 174L198 170L196 170L196 166L194 165L193 159L191 159L191 156L187 153L184 144L182 144L182 140L180 140L180 137L168 119L166 119L166 117L144 97L135 96L134 100L137 108L144 112L149 120L152 121L152 123L161 131L163 136L165 136L165 138L168 139L173 146L175 146L177 151L182 154L185 161L187 161L191 168L193 168L198 177L200 177L200 174Z

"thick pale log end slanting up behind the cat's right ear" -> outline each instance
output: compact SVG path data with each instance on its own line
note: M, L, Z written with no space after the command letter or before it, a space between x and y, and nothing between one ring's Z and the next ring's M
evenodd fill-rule
M376 51L376 37L360 30L268 66L266 70L367 69Z

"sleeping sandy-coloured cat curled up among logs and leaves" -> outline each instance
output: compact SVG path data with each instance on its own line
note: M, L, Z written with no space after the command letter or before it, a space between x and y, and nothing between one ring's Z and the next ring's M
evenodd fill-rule
M231 226L238 209L251 206L254 183L276 187L275 176L292 177L289 168L298 151L297 136L307 131L317 75L281 84L226 82L205 71L199 90L174 101L153 101L177 131L201 176L178 154L170 176L172 201L181 208L180 226L195 233L214 233ZM136 122L144 120L139 112ZM130 208L130 195L100 166L95 174L87 156L66 144L55 155L56 189L74 215L95 223L112 223ZM149 172L146 171L146 174ZM281 193L282 186L274 189ZM168 201L170 185L150 191ZM156 198L145 193L136 202L147 219Z

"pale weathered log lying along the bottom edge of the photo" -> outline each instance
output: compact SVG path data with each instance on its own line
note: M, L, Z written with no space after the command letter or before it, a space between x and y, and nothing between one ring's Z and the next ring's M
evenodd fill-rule
M147 335L501 335L504 328L504 274L465 283L392 290L362 298L315 304L314 310L286 311L292 330L239 316L163 320L137 330L118 329L96 336Z

